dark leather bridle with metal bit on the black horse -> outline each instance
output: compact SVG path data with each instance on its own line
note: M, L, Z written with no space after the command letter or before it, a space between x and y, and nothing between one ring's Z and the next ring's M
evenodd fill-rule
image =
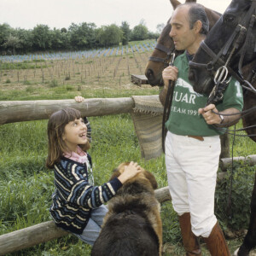
M247 13L245 14L243 20L241 20L241 24L238 24L236 26L235 31L231 34L226 44L224 44L224 47L219 50L218 54L215 54L204 41L201 42L201 49L203 49L207 53L207 55L212 58L212 61L208 62L207 64L189 61L189 67L207 69L207 72L211 73L214 76L215 86L212 89L212 93L214 90L217 91L218 86L216 85L223 83L228 84L228 81L226 79L228 77L228 74L230 73L241 83L241 86L244 89L253 91L256 94L255 88L253 88L253 85L243 78L241 71L243 58L249 44L249 37L253 29L254 22L256 20L256 0L251 1L252 4L247 10ZM231 48L231 46L233 48ZM227 60L224 61L224 57L229 52L229 49L231 49L230 54L228 55ZM238 49L240 49L240 60L238 64L237 74L231 67L229 67L229 64L231 57L236 53ZM256 45L254 47L254 52L256 52ZM214 73L214 66L216 64L219 64L220 67L218 67L217 72ZM223 90L225 90L225 88Z

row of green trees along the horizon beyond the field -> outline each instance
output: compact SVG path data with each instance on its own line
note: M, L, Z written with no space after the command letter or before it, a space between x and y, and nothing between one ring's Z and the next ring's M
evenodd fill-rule
M164 26L160 24L157 29ZM125 45L129 41L158 38L159 32L149 32L141 21L133 29L127 21L121 26L115 24L96 27L95 23L72 23L68 28L50 29L47 25L37 25L26 30L12 28L7 23L0 24L0 54L16 55L38 51L82 50Z

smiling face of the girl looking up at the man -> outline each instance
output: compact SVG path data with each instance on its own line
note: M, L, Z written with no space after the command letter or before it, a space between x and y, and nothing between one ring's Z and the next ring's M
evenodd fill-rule
M70 151L76 152L79 144L88 142L86 134L87 126L84 124L84 119L74 119L65 126L62 139Z

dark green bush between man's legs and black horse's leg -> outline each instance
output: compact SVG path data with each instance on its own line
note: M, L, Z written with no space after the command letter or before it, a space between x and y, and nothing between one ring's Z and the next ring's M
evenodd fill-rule
M231 170L228 169L226 177L220 181L216 189L215 213L222 225L231 230L247 229L250 219L255 167L234 163L233 170L232 174ZM231 207L229 208L229 206Z

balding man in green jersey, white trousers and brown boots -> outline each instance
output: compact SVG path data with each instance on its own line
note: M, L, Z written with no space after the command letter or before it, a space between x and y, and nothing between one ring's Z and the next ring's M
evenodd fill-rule
M220 154L219 135L237 122L243 105L240 84L231 79L224 100L206 108L207 96L195 93L189 83L189 60L208 31L207 15L196 3L179 5L170 21L170 37L177 50L173 67L166 67L160 93L164 105L169 80L175 81L172 109L166 122L166 171L172 205L179 216L187 255L201 255L202 236L212 255L230 255L214 215L214 193ZM213 110L213 112L212 112ZM216 114L218 113L218 114ZM226 116L224 114L237 113Z

